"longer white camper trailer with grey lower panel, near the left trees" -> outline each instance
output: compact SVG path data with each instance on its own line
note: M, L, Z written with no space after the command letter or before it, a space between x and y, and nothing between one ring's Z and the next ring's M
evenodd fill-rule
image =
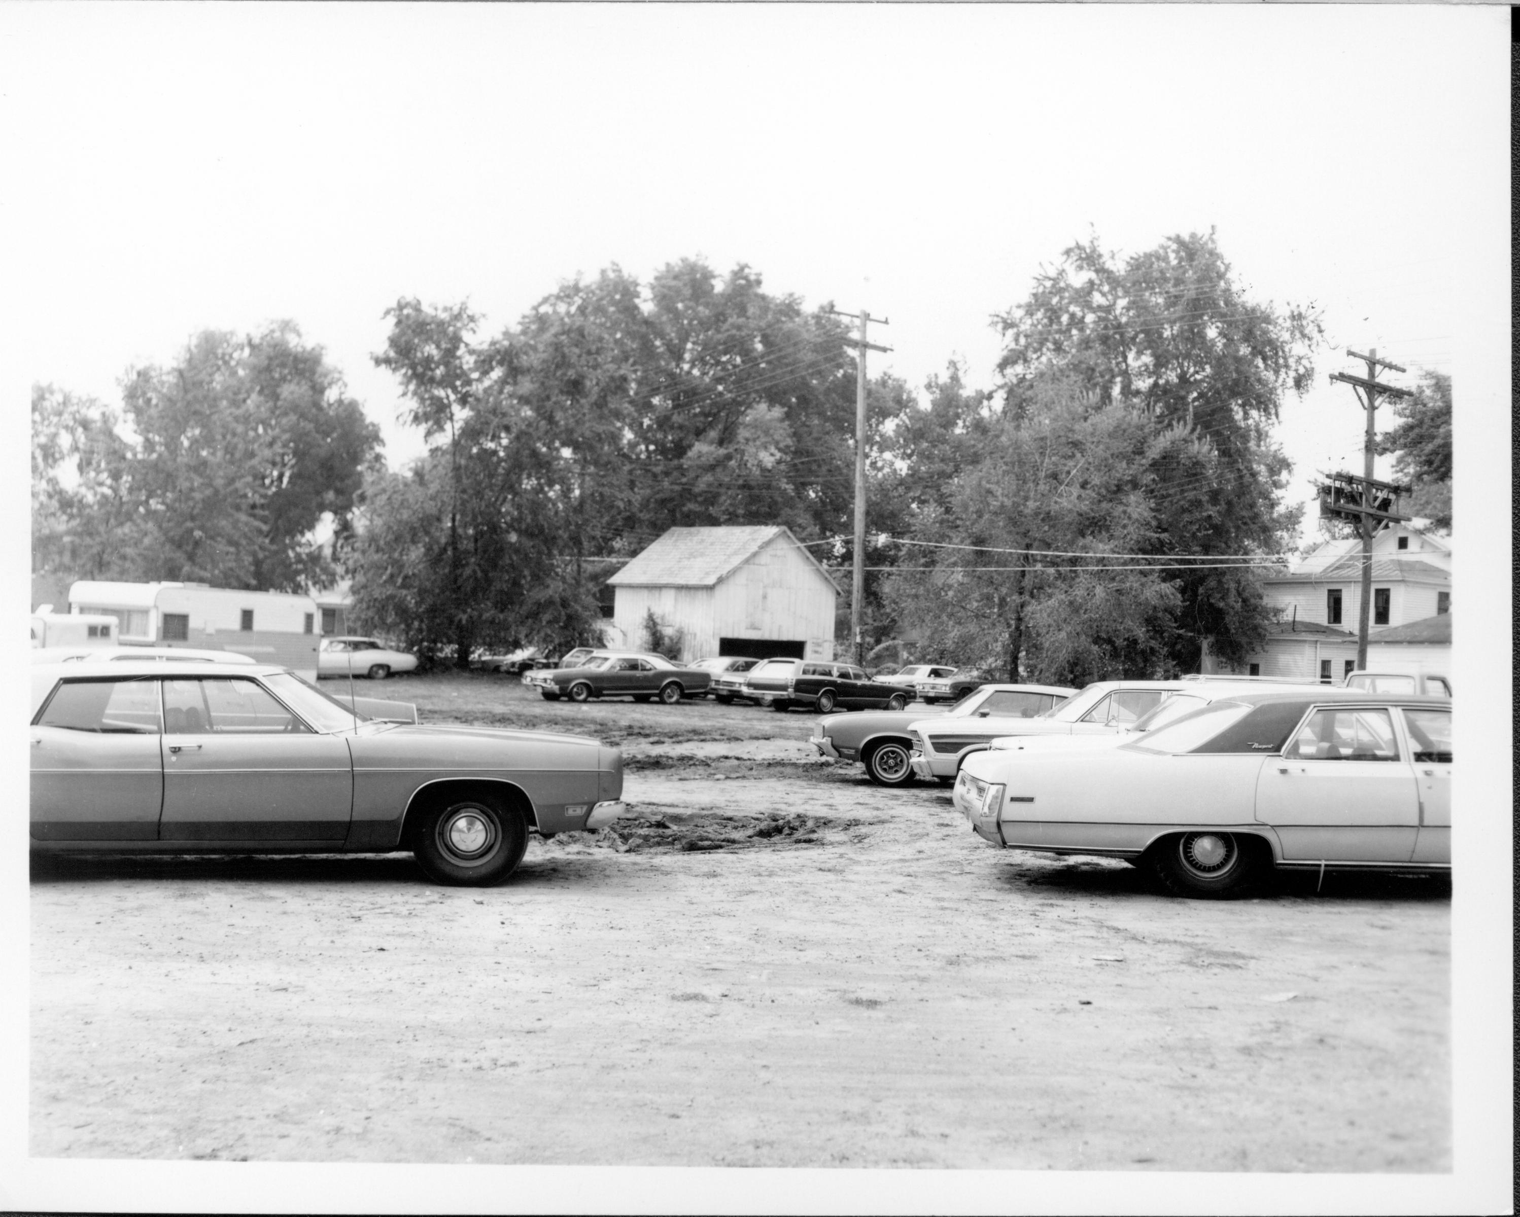
M106 583L68 588L73 614L117 621L123 646L236 650L316 679L318 608L310 596L205 583Z

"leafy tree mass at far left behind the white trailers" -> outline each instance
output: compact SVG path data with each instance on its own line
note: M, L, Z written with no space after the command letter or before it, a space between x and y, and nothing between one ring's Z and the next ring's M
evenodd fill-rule
M293 324L196 334L167 368L129 371L122 403L33 390L43 565L286 591L333 577L313 533L347 527L380 431Z

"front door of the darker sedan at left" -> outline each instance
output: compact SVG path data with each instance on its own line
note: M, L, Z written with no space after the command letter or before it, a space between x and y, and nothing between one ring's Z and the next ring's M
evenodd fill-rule
M248 676L163 682L160 840L342 842L353 764L342 735L312 731Z

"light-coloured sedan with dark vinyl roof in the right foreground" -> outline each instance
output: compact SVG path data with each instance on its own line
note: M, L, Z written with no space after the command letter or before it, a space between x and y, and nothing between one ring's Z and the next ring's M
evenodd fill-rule
M955 804L993 845L1126 858L1183 896L1274 866L1449 871L1452 702L1237 693L1117 748L977 754Z

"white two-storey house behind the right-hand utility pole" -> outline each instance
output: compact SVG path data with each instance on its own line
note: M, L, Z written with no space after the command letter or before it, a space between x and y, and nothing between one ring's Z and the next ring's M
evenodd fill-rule
M1246 656L1251 676L1341 684L1356 669L1362 603L1362 542L1327 541L1284 574L1262 580L1277 609L1266 646ZM1452 609L1452 539L1394 526L1373 538L1368 665L1380 631ZM1205 672L1210 665L1205 662Z

